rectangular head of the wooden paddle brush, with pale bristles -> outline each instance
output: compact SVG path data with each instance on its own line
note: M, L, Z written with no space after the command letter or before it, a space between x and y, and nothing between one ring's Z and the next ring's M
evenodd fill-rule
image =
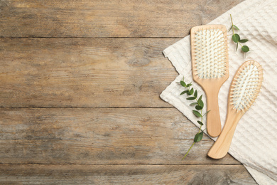
M196 26L191 30L192 73L198 78L222 78L229 71L227 30L223 25ZM228 74L229 75L229 74Z

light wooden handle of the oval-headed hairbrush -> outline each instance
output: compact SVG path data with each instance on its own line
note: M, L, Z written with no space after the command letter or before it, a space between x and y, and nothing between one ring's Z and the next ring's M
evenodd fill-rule
M241 113L237 113L236 110L232 110L231 113L228 112L227 120L222 132L207 154L209 157L213 159L221 159L227 154L233 139L234 131L241 116Z

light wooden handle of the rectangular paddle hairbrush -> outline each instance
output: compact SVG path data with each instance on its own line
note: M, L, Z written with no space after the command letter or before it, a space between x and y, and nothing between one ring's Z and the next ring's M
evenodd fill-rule
M220 87L219 87L220 88ZM221 132L221 122L218 107L218 90L206 88L207 95L207 132L211 137L219 136Z

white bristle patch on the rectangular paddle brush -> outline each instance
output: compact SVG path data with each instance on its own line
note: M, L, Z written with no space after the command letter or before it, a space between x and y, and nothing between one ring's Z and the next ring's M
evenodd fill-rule
M195 67L199 78L222 78L227 68L224 33L219 28L195 33Z

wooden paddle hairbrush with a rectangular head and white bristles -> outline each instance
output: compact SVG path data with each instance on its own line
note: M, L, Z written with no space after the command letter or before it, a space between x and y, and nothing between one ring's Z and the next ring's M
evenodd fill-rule
M218 93L229 78L227 29L224 25L195 26L190 31L192 78L207 97L207 132L217 137L221 132Z

